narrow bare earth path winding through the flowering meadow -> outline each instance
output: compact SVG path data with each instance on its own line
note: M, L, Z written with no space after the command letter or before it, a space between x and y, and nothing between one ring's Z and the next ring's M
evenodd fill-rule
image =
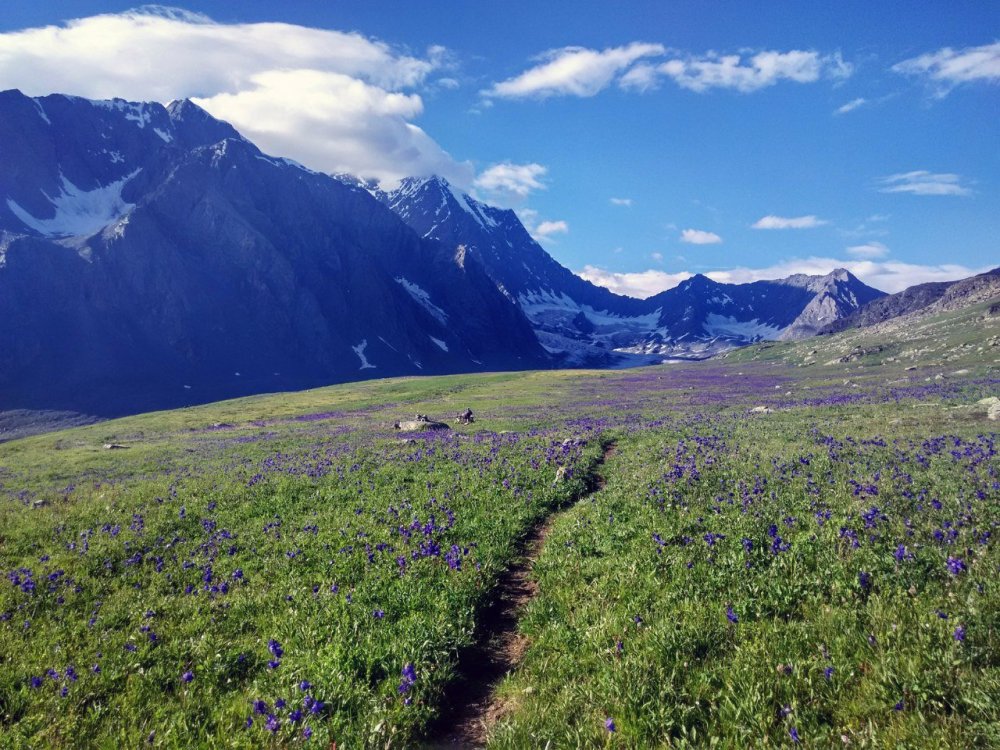
M604 487L601 464L614 455L616 446L608 443L592 470L587 490L579 502ZM537 594L538 585L532 568L541 554L545 540L559 513L550 514L525 537L514 564L501 578L497 596L482 615L482 636L462 655L462 678L445 700L445 714L427 748L479 748L486 744L487 729L503 714L504 706L495 690L500 681L520 664L527 649L527 639L518 631L524 608Z

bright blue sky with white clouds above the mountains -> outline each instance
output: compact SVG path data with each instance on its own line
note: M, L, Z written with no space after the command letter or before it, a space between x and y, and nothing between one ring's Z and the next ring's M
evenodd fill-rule
M191 96L316 169L440 172L625 293L1000 265L995 2L134 5L5 7L0 87Z

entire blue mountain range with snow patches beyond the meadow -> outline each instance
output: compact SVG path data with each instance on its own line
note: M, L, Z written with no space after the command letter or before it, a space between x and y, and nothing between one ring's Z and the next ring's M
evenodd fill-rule
M441 178L319 174L186 100L6 91L0 144L0 411L700 358L898 298L843 269L624 297Z

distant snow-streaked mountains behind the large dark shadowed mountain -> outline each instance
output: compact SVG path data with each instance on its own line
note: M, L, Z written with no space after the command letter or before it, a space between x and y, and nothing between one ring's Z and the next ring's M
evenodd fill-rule
M389 192L366 187L422 237L468 248L566 365L646 364L811 336L883 295L837 269L750 284L697 275L646 300L623 297L559 265L513 211L488 206L439 177L404 180Z

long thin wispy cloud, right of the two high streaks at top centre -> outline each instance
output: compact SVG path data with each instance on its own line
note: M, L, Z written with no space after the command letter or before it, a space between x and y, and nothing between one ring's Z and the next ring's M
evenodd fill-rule
M656 65L642 63L622 76L619 83L622 88L645 91L655 87L661 78L670 78L678 86L696 92L725 88L749 93L782 80L813 83L822 77L847 78L852 72L853 67L839 53L765 50L744 58L742 54L712 52L701 57L675 57Z

